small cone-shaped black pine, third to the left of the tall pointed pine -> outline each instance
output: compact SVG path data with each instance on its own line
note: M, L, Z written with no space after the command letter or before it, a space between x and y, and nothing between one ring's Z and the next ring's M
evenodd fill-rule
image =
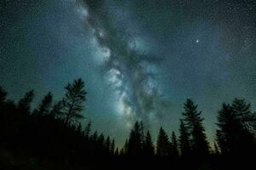
M160 127L158 139L156 143L156 156L170 156L171 143L165 130Z

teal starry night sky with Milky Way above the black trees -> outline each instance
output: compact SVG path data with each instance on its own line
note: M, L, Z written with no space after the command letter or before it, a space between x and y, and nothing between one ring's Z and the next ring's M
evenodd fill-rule
M35 90L60 99L82 77L83 115L122 145L139 120L154 139L177 132L195 100L214 139L222 102L256 106L254 0L4 0L0 85L17 101Z

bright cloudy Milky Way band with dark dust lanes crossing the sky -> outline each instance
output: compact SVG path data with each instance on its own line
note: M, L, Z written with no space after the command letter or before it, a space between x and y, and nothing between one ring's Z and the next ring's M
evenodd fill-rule
M143 40L132 37L122 26L114 26L108 7L102 1L81 1L85 26L96 38L97 45L104 51L103 71L118 95L115 105L125 117L128 127L135 121L146 125L160 116L162 106L157 76L159 56L143 51Z

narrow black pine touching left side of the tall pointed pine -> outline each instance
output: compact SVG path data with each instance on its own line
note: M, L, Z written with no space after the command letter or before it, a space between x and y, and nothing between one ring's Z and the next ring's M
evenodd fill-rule
M188 128L185 127L183 120L180 120L180 127L179 127L179 148L181 152L182 158L186 159L191 155L191 148L189 142L189 132Z

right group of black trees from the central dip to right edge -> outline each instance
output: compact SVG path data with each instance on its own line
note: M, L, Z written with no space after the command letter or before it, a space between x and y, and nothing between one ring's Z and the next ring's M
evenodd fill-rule
M179 168L230 169L253 166L256 156L256 113L244 99L234 99L218 111L215 140L207 141L201 111L191 99L183 105L179 134L170 136L160 127L156 145L150 133L144 133L143 122L136 122L119 156L154 158ZM160 164L160 165L162 165Z

